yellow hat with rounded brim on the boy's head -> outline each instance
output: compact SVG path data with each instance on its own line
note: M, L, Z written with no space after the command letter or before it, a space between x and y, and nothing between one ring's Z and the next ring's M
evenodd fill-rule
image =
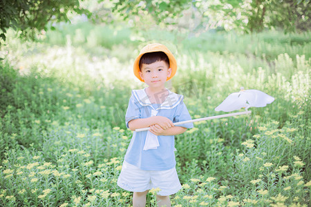
M149 52L164 52L167 55L167 57L169 58L169 68L171 68L171 76L167 78L167 81L171 79L176 74L176 70L177 70L176 59L171 53L171 51L169 51L169 49L166 46L160 43L151 43L147 46L144 46L144 48L142 48L142 50L140 51L140 55L138 55L138 57L136 57L134 61L135 77L140 79L140 81L144 82L144 80L140 77L140 73L139 73L140 72L140 66L139 66L140 57L142 57L142 55L144 55L145 53L149 53Z

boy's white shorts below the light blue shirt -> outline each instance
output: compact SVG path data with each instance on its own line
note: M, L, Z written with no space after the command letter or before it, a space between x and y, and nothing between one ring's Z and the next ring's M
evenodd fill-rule
M152 188L160 188L158 195L173 195L180 190L176 168L169 170L141 170L132 164L123 162L117 185L131 192L144 192Z

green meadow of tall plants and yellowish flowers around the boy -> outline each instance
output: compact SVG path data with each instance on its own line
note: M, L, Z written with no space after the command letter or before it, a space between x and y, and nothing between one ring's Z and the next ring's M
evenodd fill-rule
M133 60L150 42L176 56L167 88L185 96L193 119L223 114L214 108L241 87L275 98L176 136L173 206L309 206L310 37L80 23L21 41L10 31L0 48L0 206L131 206L116 181L131 90L145 87Z

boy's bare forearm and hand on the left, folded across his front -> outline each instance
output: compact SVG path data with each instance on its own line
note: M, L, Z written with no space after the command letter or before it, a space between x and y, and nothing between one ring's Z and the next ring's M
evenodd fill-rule
M163 129L172 128L174 126L173 122L167 117L155 116L145 119L133 119L129 121L129 128L130 130L135 131L138 128L146 128L155 124L158 124L158 126Z

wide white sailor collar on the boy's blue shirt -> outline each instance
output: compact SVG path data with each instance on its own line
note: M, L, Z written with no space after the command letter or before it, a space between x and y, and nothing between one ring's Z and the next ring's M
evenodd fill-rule
M153 108L152 103L150 102L149 97L145 91L145 88L140 90L133 90L132 94L141 106L150 106L151 108L153 108L153 110L172 109L175 108L182 101L183 96L178 95L175 92L171 92L170 90L168 91L169 95L167 96L167 99L165 99L164 102L161 103L161 105L157 109Z

